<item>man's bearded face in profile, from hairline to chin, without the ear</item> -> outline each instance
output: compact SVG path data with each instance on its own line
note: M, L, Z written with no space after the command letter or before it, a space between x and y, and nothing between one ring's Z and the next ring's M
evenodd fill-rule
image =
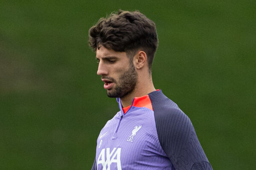
M99 62L97 74L102 76L109 97L122 98L134 91L138 75L125 52L101 46L96 51L96 59Z

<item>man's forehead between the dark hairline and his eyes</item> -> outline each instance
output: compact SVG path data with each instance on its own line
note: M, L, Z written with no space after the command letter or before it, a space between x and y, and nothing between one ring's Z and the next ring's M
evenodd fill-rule
M114 51L112 49L105 48L104 46L100 46L96 50L96 58L104 57L128 58L125 52Z

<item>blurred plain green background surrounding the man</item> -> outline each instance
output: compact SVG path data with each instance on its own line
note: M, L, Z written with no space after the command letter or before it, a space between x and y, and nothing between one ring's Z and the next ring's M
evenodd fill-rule
M0 169L91 168L119 109L88 29L118 9L156 23L155 88L190 117L212 167L256 169L254 0L0 0Z

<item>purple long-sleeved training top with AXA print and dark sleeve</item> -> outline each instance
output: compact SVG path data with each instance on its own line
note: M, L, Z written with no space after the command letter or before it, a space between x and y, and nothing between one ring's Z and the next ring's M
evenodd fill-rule
M186 114L161 90L135 97L102 128L92 170L212 170Z

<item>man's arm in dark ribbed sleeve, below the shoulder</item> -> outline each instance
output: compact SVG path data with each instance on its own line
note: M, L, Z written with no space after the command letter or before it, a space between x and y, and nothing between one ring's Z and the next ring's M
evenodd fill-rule
M185 113L168 109L155 114L155 121L159 142L176 170L212 170Z

